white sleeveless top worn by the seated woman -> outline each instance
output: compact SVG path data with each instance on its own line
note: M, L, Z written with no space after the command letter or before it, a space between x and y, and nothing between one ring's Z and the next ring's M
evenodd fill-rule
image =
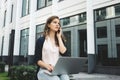
M49 37L45 39L42 48L42 60L47 63L55 66L59 58L59 47L53 45Z

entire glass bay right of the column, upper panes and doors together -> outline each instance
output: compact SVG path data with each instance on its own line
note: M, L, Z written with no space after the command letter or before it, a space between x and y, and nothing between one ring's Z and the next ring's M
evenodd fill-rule
M95 10L96 53L102 65L119 66L120 4Z

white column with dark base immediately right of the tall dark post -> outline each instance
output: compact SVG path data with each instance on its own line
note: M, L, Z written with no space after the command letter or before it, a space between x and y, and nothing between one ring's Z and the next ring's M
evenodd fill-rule
M22 0L16 1L16 25L15 25L15 40L14 40L14 53L13 53L13 64L18 64L19 62L19 49L20 49L20 17L22 11Z

